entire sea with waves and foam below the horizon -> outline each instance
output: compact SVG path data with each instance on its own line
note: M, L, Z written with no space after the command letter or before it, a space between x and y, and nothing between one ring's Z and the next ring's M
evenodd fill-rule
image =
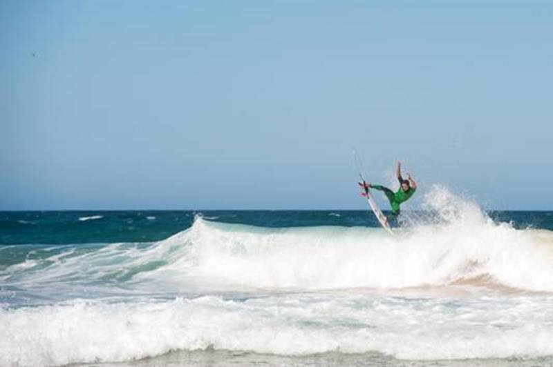
M0 212L0 366L553 366L553 212Z

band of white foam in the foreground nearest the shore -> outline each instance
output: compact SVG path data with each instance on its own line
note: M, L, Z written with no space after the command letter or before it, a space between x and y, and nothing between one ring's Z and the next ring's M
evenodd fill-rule
M366 295L205 296L0 309L1 366L129 361L171 350L277 355L378 352L399 359L553 354L553 299Z

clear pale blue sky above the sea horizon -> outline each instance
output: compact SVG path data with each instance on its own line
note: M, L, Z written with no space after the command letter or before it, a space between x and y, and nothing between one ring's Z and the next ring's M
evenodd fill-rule
M0 210L362 209L352 146L553 209L552 45L550 1L3 0Z

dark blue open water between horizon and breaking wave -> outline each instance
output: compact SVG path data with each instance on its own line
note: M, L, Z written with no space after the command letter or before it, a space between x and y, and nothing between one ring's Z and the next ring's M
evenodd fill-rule
M0 244L159 241L189 228L198 215L221 223L272 228L380 227L367 210L21 211L0 212ZM487 215L518 229L553 230L553 211L491 211Z

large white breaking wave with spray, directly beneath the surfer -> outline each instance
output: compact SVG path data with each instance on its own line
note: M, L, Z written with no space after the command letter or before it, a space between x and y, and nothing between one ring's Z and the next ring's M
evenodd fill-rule
M0 279L177 292L450 284L553 292L553 232L494 223L476 204L440 187L426 203L431 215L394 235L377 228L262 228L196 217L191 228L163 241L56 250L28 266L10 266Z

